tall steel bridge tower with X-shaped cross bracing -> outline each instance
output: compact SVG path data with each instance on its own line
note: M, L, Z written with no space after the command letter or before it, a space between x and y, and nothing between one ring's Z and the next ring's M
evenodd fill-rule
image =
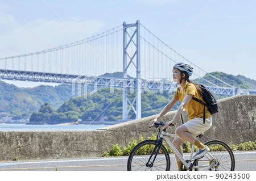
M128 88L123 87L123 120L128 119L129 112L131 109L136 114L136 119L141 118L141 42L140 42L140 22L137 20L134 24L126 24L123 22L123 78L127 79L127 70L130 66L135 66L136 68L136 79L135 79L135 98L131 102L128 98ZM133 33L129 33L130 28L135 27ZM135 40L135 41L134 41ZM133 44L133 45L132 45ZM130 46L135 46L133 54L129 54L127 49ZM136 57L136 62L134 62ZM134 103L136 102L136 109ZM128 103L130 104L128 110Z

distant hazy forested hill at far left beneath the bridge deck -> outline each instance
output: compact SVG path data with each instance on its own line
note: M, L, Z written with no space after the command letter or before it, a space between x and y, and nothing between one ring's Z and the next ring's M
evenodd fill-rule
M28 119L43 103L48 102L54 108L59 108L69 98L72 98L71 85L20 89L0 81L0 118Z

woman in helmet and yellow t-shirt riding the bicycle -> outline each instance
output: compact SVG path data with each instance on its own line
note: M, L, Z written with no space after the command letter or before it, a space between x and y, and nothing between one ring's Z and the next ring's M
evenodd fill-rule
M204 106L203 104L192 99L195 97L204 102L201 96L202 90L200 89L200 86L189 80L189 76L191 76L193 73L193 68L190 65L181 62L174 65L172 72L174 82L179 83L180 86L175 91L174 97L171 99L171 101L166 105L166 107L163 108L160 114L150 122L149 126L152 127L155 122L160 119L160 117L164 116L168 111L170 111L174 104L180 100L181 104L175 113L175 116L171 121L168 121L166 125L164 125L164 128L167 128L168 125L175 123L185 108L185 110L188 112L189 121L176 128L175 132L179 137L174 138L173 144L179 153L183 155L181 145L185 141L191 142L191 144L194 144L197 146L197 148L199 148L196 151L196 154L193 156L193 159L198 159L208 153L209 148L197 140L195 136L207 131L212 126L212 117L210 116L210 112L207 110L207 107L205 107L205 123L203 123ZM175 158L177 161L177 166L180 170L181 161L176 155Z

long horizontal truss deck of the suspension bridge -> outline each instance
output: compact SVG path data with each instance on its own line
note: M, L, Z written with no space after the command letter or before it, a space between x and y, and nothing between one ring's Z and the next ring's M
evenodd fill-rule
M80 85L98 85L106 87L127 87L135 89L138 82L137 79L123 79L123 78L108 78L108 77L93 77L86 74L72 75L72 74L55 74L43 73L33 71L18 71L18 70L3 70L0 69L0 78L17 81L33 81L33 82L55 82L68 83ZM177 85L174 82L163 81L147 81L141 79L142 89L144 91L175 91ZM213 87L206 86L213 94L217 95L236 95L237 90L230 87ZM249 90L251 94L256 94L256 90Z

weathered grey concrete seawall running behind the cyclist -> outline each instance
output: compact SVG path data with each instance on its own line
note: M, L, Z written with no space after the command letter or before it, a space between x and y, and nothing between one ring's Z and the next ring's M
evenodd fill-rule
M220 111L213 115L213 125L202 141L218 139L233 144L256 140L256 96L240 95L218 101ZM175 111L167 113L164 121L171 120ZM148 128L155 116L128 121L96 131L0 131L0 161L14 157L26 159L63 159L101 156L113 144L126 146L131 138L144 139L156 128ZM183 112L184 120L188 115ZM181 124L176 121L173 128ZM168 132L172 132L171 129Z

